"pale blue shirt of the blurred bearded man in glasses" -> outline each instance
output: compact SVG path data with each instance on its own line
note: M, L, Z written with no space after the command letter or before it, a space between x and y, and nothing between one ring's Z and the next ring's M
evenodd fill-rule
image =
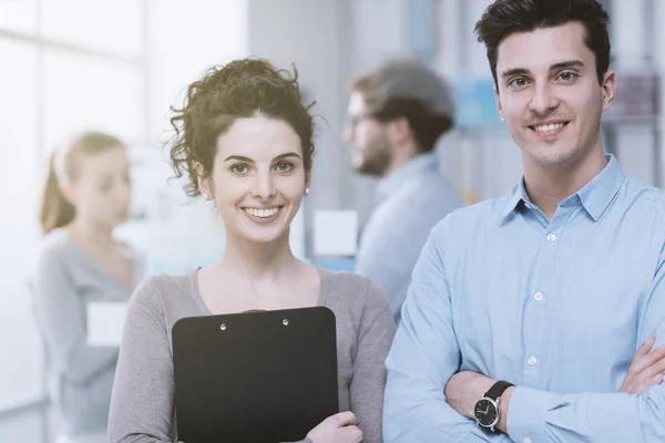
M379 204L362 230L356 271L386 293L399 322L413 266L430 230L464 203L439 172L434 153L418 155L393 171L377 190Z

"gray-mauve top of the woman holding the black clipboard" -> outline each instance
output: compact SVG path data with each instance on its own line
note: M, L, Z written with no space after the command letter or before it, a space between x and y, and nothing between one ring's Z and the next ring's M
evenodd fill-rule
M357 415L364 442L381 442L385 360L395 333L388 303L365 277L323 269L319 276L319 305L336 316L340 411ZM185 276L154 276L137 288L121 344L110 443L177 441L171 331L183 317L209 315L196 270Z

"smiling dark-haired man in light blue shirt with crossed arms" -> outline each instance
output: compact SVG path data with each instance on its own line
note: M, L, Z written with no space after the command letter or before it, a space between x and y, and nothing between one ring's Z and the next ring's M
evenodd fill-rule
M432 230L387 443L665 441L665 195L603 152L607 21L595 0L497 0L477 24L524 176Z

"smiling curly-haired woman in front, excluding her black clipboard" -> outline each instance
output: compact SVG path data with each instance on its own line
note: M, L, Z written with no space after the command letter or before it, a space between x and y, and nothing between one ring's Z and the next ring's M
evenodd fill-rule
M113 391L109 441L178 441L171 330L183 317L326 306L337 318L341 413L311 443L381 442L383 361L393 321L367 278L298 260L289 225L311 183L314 120L297 72L262 60L212 69L175 111L171 159L191 196L214 200L226 246L213 265L145 280L134 293ZM301 362L299 364L306 364Z

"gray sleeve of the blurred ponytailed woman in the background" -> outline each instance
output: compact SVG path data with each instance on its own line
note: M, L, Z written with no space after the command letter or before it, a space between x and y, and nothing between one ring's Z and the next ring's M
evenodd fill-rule
M86 342L85 302L65 267L68 257L45 250L31 279L34 311L50 357L68 381L86 385L115 365L117 350Z

